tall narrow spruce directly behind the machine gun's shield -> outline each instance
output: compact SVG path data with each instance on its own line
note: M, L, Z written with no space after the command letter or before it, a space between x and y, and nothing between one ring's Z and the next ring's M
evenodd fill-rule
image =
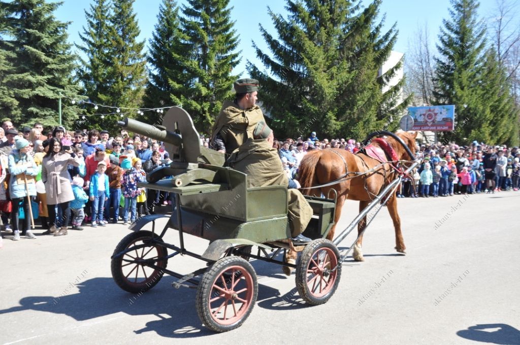
M189 82L180 101L196 128L209 132L223 100L231 98L231 70L239 63L238 36L229 0L188 0L183 6L183 31L190 54L184 65Z

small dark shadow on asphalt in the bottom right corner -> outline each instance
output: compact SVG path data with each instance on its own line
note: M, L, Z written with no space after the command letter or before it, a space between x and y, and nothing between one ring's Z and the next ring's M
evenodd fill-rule
M464 339L491 344L520 345L520 331L505 324L470 326L467 329L459 330L457 335Z

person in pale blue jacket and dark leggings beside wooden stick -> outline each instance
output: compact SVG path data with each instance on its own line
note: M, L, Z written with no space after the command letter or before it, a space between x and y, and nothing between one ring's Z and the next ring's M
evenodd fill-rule
M28 140L17 138L16 149L12 150L8 158L9 172L11 174L9 195L12 202L11 227L14 232L13 241L20 240L20 231L18 230L20 204L22 204L25 215L22 232L25 232L25 237L27 238L36 238L29 228L31 216L28 196L36 196L36 180L34 176L38 174L38 169L32 156L28 154L30 149Z

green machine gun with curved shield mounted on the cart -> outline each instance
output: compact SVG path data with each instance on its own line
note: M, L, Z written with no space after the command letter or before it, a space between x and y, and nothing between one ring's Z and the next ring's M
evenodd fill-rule
M223 166L224 154L200 145L199 134L190 115L182 108L173 107L166 112L162 125L149 125L131 118L118 121L128 131L163 141L172 159L168 166L159 167L146 176L149 183L156 183L166 176L174 176L175 187L182 187L195 180L212 182L215 171L206 165Z

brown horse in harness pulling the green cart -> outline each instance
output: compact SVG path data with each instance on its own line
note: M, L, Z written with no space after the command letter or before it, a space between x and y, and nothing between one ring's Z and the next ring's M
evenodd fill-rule
M399 136L405 144L408 145L412 153L415 153L415 137L417 132L398 131L396 135ZM406 150L400 143L392 137L385 138L386 142L391 144L398 160L414 160L414 157L409 157ZM372 142L374 146L381 146L378 142ZM324 187L320 189L304 189L302 192L307 195L320 196L328 195L329 190L335 189L337 192L336 215L334 218L334 226L328 233L327 238L332 241L334 238L334 231L336 224L340 219L341 211L345 199L359 201L359 211L361 212L370 204L374 196L378 195L380 191L397 178L397 171L389 163L381 163L374 158L369 157L365 153L352 154L346 150L326 149L311 151L305 155L298 175L299 182L302 188L313 187L313 185L326 184L345 176L346 172L363 172L370 169L373 171L363 175L350 174L349 178L340 183ZM355 177L354 177L355 176ZM392 217L395 228L395 249L399 253L405 253L405 242L401 234L401 220L397 214L397 199L395 191L389 198L386 206L388 212ZM367 217L363 218L358 224L358 234L363 230L367 221ZM356 261L363 261L363 254L361 253L362 236L354 246L353 257ZM292 259L295 259L296 253L292 253ZM288 255L291 258L291 255ZM292 260L291 260L292 261Z

